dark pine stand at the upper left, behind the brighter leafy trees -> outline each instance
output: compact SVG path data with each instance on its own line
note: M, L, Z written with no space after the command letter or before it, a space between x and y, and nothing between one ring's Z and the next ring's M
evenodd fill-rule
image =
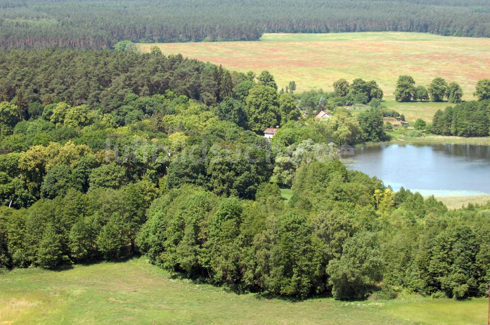
M0 51L0 98L11 100L22 93L22 97L16 98L26 108L33 102L42 101L47 105L42 113L45 120L52 117L55 108L48 102L52 100L48 97L53 93L72 106L98 102L105 110L103 113L108 113L116 109L127 93L151 96L172 90L177 94L201 99L201 94L208 92L211 85L204 78L206 67L218 70L216 66L185 59L182 55L155 56L107 50ZM216 83L214 90L221 97L229 96L235 85L229 84L231 79L226 78L229 76L228 71L220 71L221 74L210 75ZM227 80L229 89L221 89L220 93L216 87L223 78ZM141 119L141 114L153 113L147 111L152 104L143 104L139 107L130 105L131 109L127 113L134 112L127 117L127 122ZM3 124L13 128L19 116L15 105L2 103L0 131ZM8 134L11 131L1 132Z

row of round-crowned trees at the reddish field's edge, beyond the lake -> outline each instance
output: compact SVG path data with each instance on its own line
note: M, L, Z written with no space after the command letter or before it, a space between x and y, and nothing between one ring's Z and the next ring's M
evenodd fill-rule
M444 98L450 103L460 103L463 97L461 86L451 81L447 83L444 78L437 77L428 87L416 86L415 80L409 75L398 77L395 88L395 99L399 102L409 102L412 100L441 102Z

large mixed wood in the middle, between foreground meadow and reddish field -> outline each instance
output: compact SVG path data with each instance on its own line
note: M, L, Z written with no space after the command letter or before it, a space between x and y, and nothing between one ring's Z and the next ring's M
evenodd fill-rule
M340 161L339 145L386 137L375 81L296 96L267 71L157 49L0 62L0 272L144 254L175 276L294 299L485 295L489 204L448 210ZM350 101L369 108L353 116Z

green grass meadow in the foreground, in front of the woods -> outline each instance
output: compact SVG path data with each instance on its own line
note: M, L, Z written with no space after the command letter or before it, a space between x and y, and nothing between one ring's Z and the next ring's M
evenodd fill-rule
M135 258L0 276L0 324L484 324L487 300L289 302L170 279Z

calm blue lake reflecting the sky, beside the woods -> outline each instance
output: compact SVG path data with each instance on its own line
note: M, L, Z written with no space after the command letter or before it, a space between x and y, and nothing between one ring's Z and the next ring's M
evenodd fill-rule
M376 176L395 191L403 186L422 195L490 193L490 146L365 146L343 159L349 169Z

